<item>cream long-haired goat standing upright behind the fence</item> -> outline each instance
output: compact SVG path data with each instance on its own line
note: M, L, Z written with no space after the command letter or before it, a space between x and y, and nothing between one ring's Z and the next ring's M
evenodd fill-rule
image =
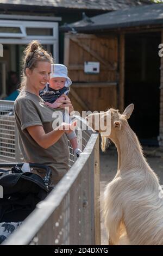
M105 227L111 245L163 245L163 199L159 196L160 185L143 156L139 140L128 124L127 119L133 109L133 104L123 114L109 109L111 133L108 138L117 147L118 170L104 191L102 207ZM102 137L103 150L105 145L106 138Z

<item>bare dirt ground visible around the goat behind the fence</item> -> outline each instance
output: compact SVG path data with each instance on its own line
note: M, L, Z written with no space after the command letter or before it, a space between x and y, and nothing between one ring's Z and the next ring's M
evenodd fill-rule
M160 185L163 185L163 152L160 152L158 148L143 148L143 151L149 165L158 175ZM100 153L101 194L105 185L114 178L117 172L117 161L117 150L113 145L106 153ZM103 221L101 221L101 245L108 245Z

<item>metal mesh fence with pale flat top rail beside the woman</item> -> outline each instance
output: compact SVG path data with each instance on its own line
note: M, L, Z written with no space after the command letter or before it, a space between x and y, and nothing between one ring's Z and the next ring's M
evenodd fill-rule
M13 103L0 101L0 161L4 162L22 161ZM3 244L100 245L98 134L84 129L77 131L77 137L82 155L77 159L70 147L70 170Z

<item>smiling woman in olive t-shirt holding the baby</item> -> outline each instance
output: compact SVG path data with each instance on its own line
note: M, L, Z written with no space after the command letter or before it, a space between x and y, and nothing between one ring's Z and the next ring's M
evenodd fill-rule
M68 170L68 142L66 132L71 125L62 123L53 130L52 117L56 109L47 107L39 96L49 81L51 74L51 55L43 50L38 41L32 41L24 52L23 80L21 92L15 104L15 120L18 128L18 142L25 162L46 164L52 168L52 183L57 182ZM70 99L61 100L60 111L69 107L73 111ZM35 171L36 172L36 171ZM43 171L37 170L43 176Z

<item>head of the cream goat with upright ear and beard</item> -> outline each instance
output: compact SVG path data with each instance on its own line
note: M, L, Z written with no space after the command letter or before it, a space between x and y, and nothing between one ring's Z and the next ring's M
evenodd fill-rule
M121 114L117 109L110 108L106 112L88 115L86 120L89 126L91 126L93 130L101 133L101 146L103 151L105 151L106 147L106 138L115 142L117 133L120 133L123 130L124 124L127 123L127 119L130 118L133 109L134 104L130 104L126 109L124 109L123 114Z

